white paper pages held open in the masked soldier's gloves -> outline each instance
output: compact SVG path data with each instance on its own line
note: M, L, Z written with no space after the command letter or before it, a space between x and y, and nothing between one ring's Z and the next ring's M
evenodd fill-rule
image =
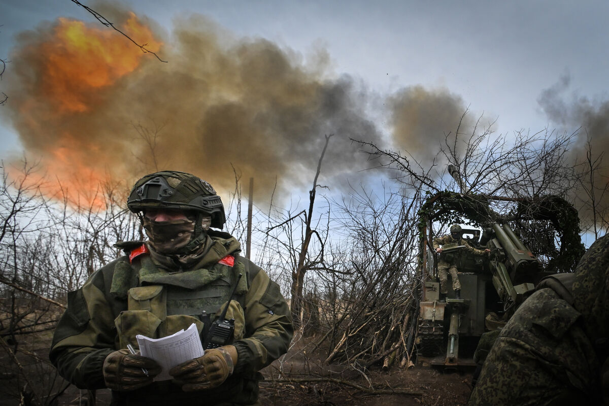
M171 379L169 369L183 362L203 355L203 346L197 331L197 325L192 323L188 329L163 338L149 338L138 334L139 352L161 365L161 373L154 380Z

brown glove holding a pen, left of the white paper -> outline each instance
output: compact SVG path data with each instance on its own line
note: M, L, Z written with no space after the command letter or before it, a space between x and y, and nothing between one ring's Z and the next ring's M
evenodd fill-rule
M111 390L132 391L150 385L153 377L161 372L161 366L155 360L121 349L108 354L102 372L106 386Z

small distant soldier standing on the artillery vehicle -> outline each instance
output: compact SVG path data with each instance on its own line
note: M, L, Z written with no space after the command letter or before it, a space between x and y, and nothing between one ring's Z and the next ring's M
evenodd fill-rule
M442 247L440 245L450 244L450 243L458 243L459 245L463 245L463 250L466 250L475 255L484 255L485 253L490 253L491 250L477 250L474 247L471 247L463 238L462 238L462 229L460 225L452 225L451 233L437 237L434 239L434 249L435 252L440 254L438 261L438 278L440 278L440 301L446 301L446 293L448 293L448 287L446 283L448 282L448 272L451 274L452 279L452 289L455 291L455 296L457 299L461 298L461 284L459 283L459 276L457 275L457 265L454 261L454 256L446 257L442 255Z

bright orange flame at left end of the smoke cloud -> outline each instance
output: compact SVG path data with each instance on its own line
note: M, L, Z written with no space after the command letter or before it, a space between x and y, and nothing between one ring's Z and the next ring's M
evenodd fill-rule
M149 51L161 47L133 13L119 29ZM119 145L122 140L103 142L103 131L93 127L111 127L107 117L99 115L104 103L111 103L113 92L124 86L121 79L150 55L115 30L59 18L40 41L22 49L20 57L29 78L24 77L27 84L15 105L19 131L26 146L41 154L35 159L46 172L30 174L27 183L40 185L44 195L68 200L73 207L104 209L108 201L100 187L121 178L121 167L111 164L111 158L120 156L116 151L124 147Z

